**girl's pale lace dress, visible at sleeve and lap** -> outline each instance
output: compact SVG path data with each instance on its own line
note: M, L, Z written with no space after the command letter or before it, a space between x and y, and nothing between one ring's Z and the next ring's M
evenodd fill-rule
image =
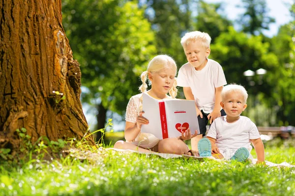
M147 94L148 95L148 94ZM129 99L127 108L126 108L126 117L125 121L130 123L136 123L136 118L138 117L139 110L142 108L142 102L140 101L141 94L132 96ZM160 140L156 138L153 134L150 133L139 133L133 141L126 141L135 145L139 145L144 148L151 148L158 144Z

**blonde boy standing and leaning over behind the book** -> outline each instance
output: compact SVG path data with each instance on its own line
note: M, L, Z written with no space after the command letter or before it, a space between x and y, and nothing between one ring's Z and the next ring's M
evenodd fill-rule
M227 84L222 67L208 59L211 38L207 33L192 31L181 38L187 63L178 72L177 85L183 87L186 99L195 100L200 135L191 139L193 150L198 151L198 142L205 136L210 124L225 113L220 107L220 93Z

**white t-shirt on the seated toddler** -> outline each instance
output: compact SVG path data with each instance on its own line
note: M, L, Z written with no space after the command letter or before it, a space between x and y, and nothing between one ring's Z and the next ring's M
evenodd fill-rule
M250 140L260 138L260 134L257 126L248 117L240 116L236 122L228 123L226 116L222 116L213 121L207 137L216 139L219 150L246 147L250 152Z

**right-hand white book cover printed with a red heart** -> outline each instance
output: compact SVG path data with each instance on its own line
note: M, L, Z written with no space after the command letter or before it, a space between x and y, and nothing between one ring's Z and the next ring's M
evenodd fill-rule
M181 132L188 128L191 135L196 131L200 134L194 100L168 99L165 100L165 106L169 137L181 136Z

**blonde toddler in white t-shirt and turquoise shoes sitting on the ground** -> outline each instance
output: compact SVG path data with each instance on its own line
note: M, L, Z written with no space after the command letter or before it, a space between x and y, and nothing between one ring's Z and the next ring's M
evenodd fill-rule
M247 117L240 116L246 109L248 94L244 87L230 84L221 92L221 107L226 116L216 119L207 134L211 141L212 155L215 158L245 161L253 159L250 143L255 148L257 163L265 161L263 142L256 125Z

